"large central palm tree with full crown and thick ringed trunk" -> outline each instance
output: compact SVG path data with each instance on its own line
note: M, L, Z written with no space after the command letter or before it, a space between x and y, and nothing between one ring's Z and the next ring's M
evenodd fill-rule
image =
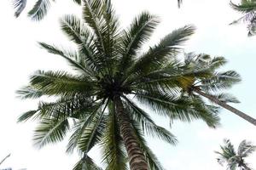
M143 12L131 26L120 30L110 1L84 1L82 20L74 15L61 19L61 30L77 48L67 50L40 42L51 54L67 59L75 73L36 71L29 85L18 91L22 99L55 97L41 101L19 122L38 120L33 140L39 148L72 135L67 152L77 149L82 158L76 169L100 169L88 156L96 144L102 146L106 169L163 169L148 148L144 135L176 144L175 137L151 119L145 105L159 116L190 122L201 119L209 127L218 125L218 108L200 99L181 95L178 86L189 84L200 71L178 68L176 56L194 26L172 31L142 53L158 17ZM193 77L192 77L193 76ZM192 77L192 78L191 78ZM137 105L137 102L141 105Z

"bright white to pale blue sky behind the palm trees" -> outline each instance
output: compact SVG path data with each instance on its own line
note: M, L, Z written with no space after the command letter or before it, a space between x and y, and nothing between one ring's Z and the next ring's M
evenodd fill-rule
M28 1L28 8L32 8L33 2ZM241 101L233 106L256 117L256 37L247 37L244 25L229 26L231 21L240 17L230 8L229 0L184 0L180 9L177 8L176 0L113 0L113 6L124 27L129 26L131 20L143 10L160 17L160 26L145 48L178 27L195 25L196 33L185 44L185 52L224 56L228 59L225 69L236 70L242 78L242 82L230 90ZM16 120L22 112L35 109L38 100L20 100L15 91L26 85L34 71L70 71L63 59L48 54L38 47L37 42L54 42L68 47L58 20L63 14L80 13L79 6L71 0L59 0L52 5L43 21L32 22L26 13L15 19L10 1L0 1L0 159L11 153L0 169L13 167L18 170L26 167L27 170L71 170L79 160L78 156L65 153L67 140L41 150L33 146L35 123L16 123ZM179 143L172 146L148 138L148 144L166 170L224 170L225 167L218 165L214 150L219 150L219 144L225 138L230 139L236 148L243 139L256 144L256 127L229 111L222 110L220 117L222 125L217 129L211 129L201 121L177 121L170 129L168 121L154 117L155 122L177 136ZM90 156L97 163L101 162L98 148L92 150ZM256 153L247 159L254 169L255 160Z

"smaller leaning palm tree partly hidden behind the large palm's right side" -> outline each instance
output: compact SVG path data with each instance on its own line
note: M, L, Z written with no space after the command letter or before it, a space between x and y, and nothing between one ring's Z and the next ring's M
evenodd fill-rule
M239 103L235 97L230 94L219 93L241 81L236 71L218 71L226 63L224 57L211 58L208 54L186 54L182 69L204 72L199 77L195 77L189 86L185 86L183 92L192 98L199 98L199 96L207 98L256 126L256 119L227 104Z

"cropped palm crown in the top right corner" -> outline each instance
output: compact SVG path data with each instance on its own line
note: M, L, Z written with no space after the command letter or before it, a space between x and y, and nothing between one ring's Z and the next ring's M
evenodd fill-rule
M241 0L241 3L236 4L230 1L231 8L243 14L243 16L230 23L234 25L236 23L244 22L247 24L248 36L255 35L256 26L256 1L255 0Z

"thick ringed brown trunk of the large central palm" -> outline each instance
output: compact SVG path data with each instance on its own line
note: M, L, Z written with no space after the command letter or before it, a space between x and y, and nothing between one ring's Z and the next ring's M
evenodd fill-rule
M125 114L124 105L120 97L113 99L116 108L116 116L119 123L121 136L125 143L125 149L128 153L131 170L148 170L148 163L145 159L143 151L137 143L134 129L131 126L129 116Z

